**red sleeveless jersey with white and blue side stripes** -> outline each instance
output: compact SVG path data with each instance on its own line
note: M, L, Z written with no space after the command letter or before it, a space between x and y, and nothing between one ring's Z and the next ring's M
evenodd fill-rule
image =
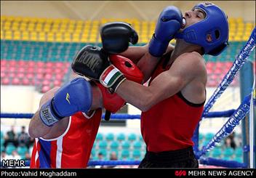
M91 117L76 113L69 118L68 127L60 137L36 138L31 168L86 168L101 115L101 109Z

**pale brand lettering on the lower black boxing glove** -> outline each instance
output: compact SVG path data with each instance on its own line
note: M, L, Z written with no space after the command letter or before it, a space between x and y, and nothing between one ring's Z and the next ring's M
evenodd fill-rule
M94 54L89 54L89 52L84 52L81 54L81 57L77 57L76 62L81 62L84 65L87 65L87 67L90 68L93 72L95 72L95 68L100 65Z

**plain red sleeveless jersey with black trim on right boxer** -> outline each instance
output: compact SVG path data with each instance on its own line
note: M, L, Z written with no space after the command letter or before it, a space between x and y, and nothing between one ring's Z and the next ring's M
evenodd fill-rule
M163 67L164 62L169 60L169 55L167 57L163 57L159 62L149 85L153 78L169 70L170 66ZM199 123L203 108L204 103L193 104L178 92L143 112L140 126L147 150L159 153L193 146L193 132Z

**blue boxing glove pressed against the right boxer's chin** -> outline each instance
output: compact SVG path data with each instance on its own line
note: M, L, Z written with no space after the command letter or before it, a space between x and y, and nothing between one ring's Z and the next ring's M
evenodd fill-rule
M156 24L155 33L149 42L149 53L154 57L161 57L167 50L169 41L174 39L183 23L183 14L177 7L166 7L161 14Z

